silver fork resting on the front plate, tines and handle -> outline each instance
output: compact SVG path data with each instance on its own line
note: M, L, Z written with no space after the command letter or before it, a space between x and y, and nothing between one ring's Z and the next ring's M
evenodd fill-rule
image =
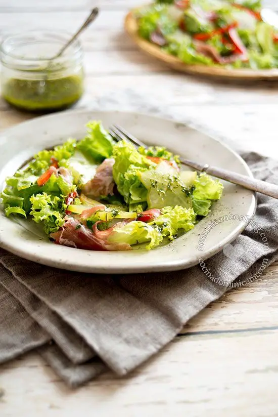
M113 124L109 129L110 135L119 142L120 140L127 140L131 142L136 147L143 146L147 148L145 143L135 138L135 136L128 133L125 129L118 126L118 124ZM241 185L248 190L257 191L261 194L268 195L273 198L278 198L278 186L275 184L268 183L266 181L256 180L255 178L247 177L246 175L237 174L233 171L224 170L218 168L217 166L209 166L209 164L201 164L190 159L180 158L180 162L183 165L190 166L196 171L206 172L213 177L220 178L221 180L228 181L233 184Z

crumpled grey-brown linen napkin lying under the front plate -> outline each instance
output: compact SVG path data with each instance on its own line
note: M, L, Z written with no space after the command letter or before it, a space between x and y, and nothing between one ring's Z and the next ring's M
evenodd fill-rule
M256 153L243 157L256 178L278 184L277 161ZM153 274L79 274L0 249L0 363L37 349L72 387L107 369L126 374L221 297L228 283L251 282L278 258L277 217L278 200L258 195L257 228L248 226L233 247L206 261L226 285L209 279L200 265Z

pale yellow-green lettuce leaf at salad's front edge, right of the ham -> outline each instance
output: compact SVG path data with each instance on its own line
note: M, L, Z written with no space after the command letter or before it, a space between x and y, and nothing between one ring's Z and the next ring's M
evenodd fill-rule
M125 226L115 227L114 231L108 237L111 243L129 243L134 245L137 243L149 242L146 249L153 249L163 240L162 234L158 228L154 228L143 222L130 222Z

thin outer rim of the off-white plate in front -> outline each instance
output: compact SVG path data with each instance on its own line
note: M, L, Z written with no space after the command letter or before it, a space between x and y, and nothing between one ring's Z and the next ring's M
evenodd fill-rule
M0 133L0 139L2 135L7 134L7 132L9 132L9 134L13 134L14 130L19 129L19 127L22 127L22 125L24 124L24 126L28 125L28 124L32 124L32 122L35 121L40 121L41 119L47 119L47 118L56 118L58 117L60 114L68 114L69 116L71 114L88 114L88 113L105 113L105 114L109 114L109 113L120 113L120 114L128 114L130 116L133 117L138 117L138 116L144 116L144 117L148 117L148 118L152 118L152 119L157 119L157 120L166 120L169 121L171 123L179 123L182 126L186 127L188 126L190 129L193 129L197 132L200 132L202 134L205 134L207 137L209 137L210 139L218 142L221 144L221 146L223 146L224 148L226 148L231 154L233 154L238 160L241 161L241 163L244 165L248 175L250 177L253 178L253 174L248 166L248 164L245 162L245 160L234 150L231 149L228 145L226 145L225 143L223 143L221 140L218 140L217 138L214 138L211 134L207 134L205 132L205 129L199 129L199 128L195 128L195 127L191 127L188 123L186 122L180 122L178 120L175 120L173 118L170 117L164 117L164 116L159 116L159 115L150 115L144 112L136 112L136 111L119 111L119 110L89 110L89 109L79 109L79 110L67 110L67 111L61 111L61 112L56 112L54 114L49 114L49 115L43 115L43 116L39 116L36 117L34 119L30 119L30 120L26 120L22 123L17 124L16 126L6 129L3 132ZM1 145L0 145L0 149L1 149ZM255 212L256 212L256 207L257 207L257 197L256 197L256 193L253 192L252 193L252 201L250 203L249 209L248 209L248 216L249 217L253 217ZM11 222L10 219L5 218L7 221ZM237 227L235 227L235 229L230 232L230 234L224 238L223 240L220 241L220 243L215 244L213 247L209 248L209 250L207 251L207 254L203 254L202 255L202 259L206 260L211 258L212 256L214 256L215 254L217 254L218 252L221 251L221 249L223 248L224 245L229 244L230 242L234 241L241 233L242 231L248 226L247 223L245 222L240 222L238 224ZM2 230L0 230L0 232L2 232ZM150 266L141 266L141 265L135 265L132 267L126 267L124 265L118 266L118 267L111 267L111 266L102 266L102 267L92 267L91 265L83 265L80 266L78 264L75 264L74 262L70 262L70 263L66 263L61 259L60 261L55 260L55 265L53 263L53 261L50 259L50 257L45 256L42 257L40 256L40 259L37 259L37 256L35 253L30 253L29 251L25 251L24 248L22 247L14 247L14 245L10 244L8 239L3 239L1 237L1 233L0 233L0 247L6 249L7 251L13 253L14 255L20 256L24 259L27 259L29 261L33 261L42 265L47 265L50 267L54 267L54 268L60 268L60 269L64 269L64 270L71 270L71 271L77 271L77 272L90 272L90 273L100 273L100 274L118 274L118 273L122 273L122 274L129 274L129 273L144 273L144 272L169 272L169 271L177 271L177 270L182 270L182 269L188 269L190 267L193 267L195 265L198 264L198 260L196 261L192 261L189 262L187 260L173 260L173 261L169 261L167 263L163 263L160 262L159 264L156 265L150 265ZM66 249L71 249L71 250L76 250L74 248L68 248L66 247ZM85 251L84 251L85 252ZM94 252L94 251L86 251L88 253ZM121 252L122 253L122 252ZM111 269L113 268L113 269Z

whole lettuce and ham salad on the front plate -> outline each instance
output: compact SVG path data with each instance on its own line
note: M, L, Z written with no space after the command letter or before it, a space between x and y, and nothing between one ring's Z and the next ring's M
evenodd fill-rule
M181 172L165 148L115 142L92 121L82 140L39 152L7 178L1 197L8 217L31 218L56 243L115 251L152 249L191 230L222 188L207 174Z

